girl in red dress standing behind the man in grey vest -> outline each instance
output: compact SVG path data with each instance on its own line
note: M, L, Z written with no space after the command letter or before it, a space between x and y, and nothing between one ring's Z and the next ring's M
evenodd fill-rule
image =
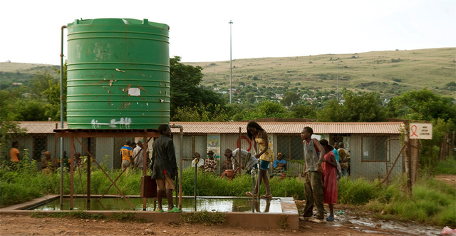
M323 202L329 205L329 216L327 221L334 220L334 204L337 203L337 162L333 153L333 147L329 145L328 140L320 140L320 144L326 150L321 167L323 168Z

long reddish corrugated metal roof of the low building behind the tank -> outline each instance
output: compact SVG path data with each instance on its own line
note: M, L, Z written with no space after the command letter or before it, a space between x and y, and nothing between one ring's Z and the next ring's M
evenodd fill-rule
M23 121L19 123L27 133L53 133L56 121ZM170 125L182 125L184 133L247 133L247 122L170 122ZM297 134L309 126L314 133L391 133L399 134L403 129L402 122L259 122L268 133ZM64 128L67 128L66 122ZM173 133L178 133L179 128L172 128Z

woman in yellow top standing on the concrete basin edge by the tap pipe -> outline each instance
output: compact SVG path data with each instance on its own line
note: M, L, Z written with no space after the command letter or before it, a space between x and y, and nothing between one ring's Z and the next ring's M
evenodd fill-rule
M272 152L272 147L269 146L268 133L257 122L249 121L247 124L247 135L253 141L252 145L255 150L255 158L259 158L259 178L261 178L260 181L264 183L264 188L266 188L266 194L262 195L261 198L272 198L267 170L269 169L269 163L274 161L274 153ZM257 151L257 143L260 150L259 153ZM257 195L258 189L257 181L254 190L255 193L247 192L246 194L250 197Z

